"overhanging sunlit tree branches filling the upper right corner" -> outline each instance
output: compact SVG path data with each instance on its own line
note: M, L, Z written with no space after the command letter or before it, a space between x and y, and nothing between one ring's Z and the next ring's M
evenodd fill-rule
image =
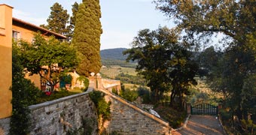
M195 37L209 39L206 37L216 32L226 35L224 40L229 38L242 43L247 34L256 29L256 1L253 0L154 2L159 10L175 20L180 30L187 33L186 39L194 43L202 43L193 40Z

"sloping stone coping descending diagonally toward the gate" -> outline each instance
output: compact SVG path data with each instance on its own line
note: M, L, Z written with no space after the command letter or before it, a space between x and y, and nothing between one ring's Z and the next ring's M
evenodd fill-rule
M105 94L111 96L111 98L114 98L114 99L116 99L117 101L120 101L122 104L125 104L125 105L127 105L128 107L133 108L134 110L138 111L139 113L142 113L142 115L146 115L146 116L148 116L148 118L151 118L151 119L153 119L154 121L157 121L157 122L159 122L160 124L163 124L164 126L169 127L169 129L173 130L172 127L169 126L169 123L166 122L166 121L164 121L162 118L158 118L157 116L152 115L151 113L148 113L148 112L146 112L145 110L142 110L141 108L136 107L136 106L133 105L133 104L130 104L128 101L124 100L123 98L120 98L119 96L113 95L111 92L105 91L105 90L103 90L103 89L97 89L97 90L99 90L100 92L104 92Z

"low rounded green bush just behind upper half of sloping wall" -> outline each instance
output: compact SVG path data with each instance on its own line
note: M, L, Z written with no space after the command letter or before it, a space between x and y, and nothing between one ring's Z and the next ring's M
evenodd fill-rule
M130 89L122 89L120 91L120 97L126 99L127 101L133 102L138 98L138 92L132 91Z

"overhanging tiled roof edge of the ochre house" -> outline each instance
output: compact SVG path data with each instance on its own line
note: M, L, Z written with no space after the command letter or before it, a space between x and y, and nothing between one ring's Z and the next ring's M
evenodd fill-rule
M50 30L48 30L46 28L35 26L32 23L27 23L27 22L25 22L23 20L19 20L19 19L14 18L14 17L13 17L13 25L14 26L23 26L23 27L26 26L26 28L29 28L32 31L41 31L41 33L44 34L44 35L54 35L58 39L66 39L67 38L66 36L64 36L62 34L58 34L56 32L50 31Z

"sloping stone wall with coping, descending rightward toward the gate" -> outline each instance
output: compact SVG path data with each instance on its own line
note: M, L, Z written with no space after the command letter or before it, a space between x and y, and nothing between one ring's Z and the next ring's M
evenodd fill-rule
M99 89L111 101L111 120L105 123L108 133L117 131L122 135L171 134L172 127L166 121L146 112L110 92Z

